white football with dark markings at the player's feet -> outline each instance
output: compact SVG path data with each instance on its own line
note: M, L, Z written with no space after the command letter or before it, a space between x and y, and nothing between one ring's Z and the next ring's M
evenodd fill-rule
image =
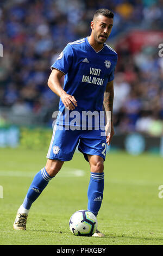
M69 227L74 235L92 236L97 230L97 218L89 210L79 210L71 216Z

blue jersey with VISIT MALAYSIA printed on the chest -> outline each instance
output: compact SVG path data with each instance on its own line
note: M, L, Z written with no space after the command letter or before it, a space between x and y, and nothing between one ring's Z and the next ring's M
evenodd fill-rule
M114 80L116 64L117 53L110 46L104 44L96 52L87 38L83 38L68 43L51 69L58 69L65 74L64 90L77 100L78 106L74 111L101 112L106 84ZM60 100L57 124L70 124L71 118L66 119L66 113Z

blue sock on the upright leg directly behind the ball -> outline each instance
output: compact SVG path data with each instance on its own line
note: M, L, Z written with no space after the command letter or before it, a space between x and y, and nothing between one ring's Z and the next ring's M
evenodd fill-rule
M92 173L87 190L87 209L97 216L101 208L104 191L104 173Z

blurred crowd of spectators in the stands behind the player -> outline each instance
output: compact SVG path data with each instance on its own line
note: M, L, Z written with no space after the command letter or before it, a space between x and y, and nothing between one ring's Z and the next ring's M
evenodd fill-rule
M98 8L115 14L106 43L118 53L116 133L162 135L163 57L158 47L163 44L162 0L1 0L0 126L11 122L52 127L59 99L47 86L50 66L68 42L90 35ZM135 42L139 39L140 44L145 33L146 43L136 48ZM153 41L148 43L149 38Z

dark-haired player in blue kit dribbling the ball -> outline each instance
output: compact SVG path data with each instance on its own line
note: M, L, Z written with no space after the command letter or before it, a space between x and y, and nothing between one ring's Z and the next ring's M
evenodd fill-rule
M77 145L90 164L87 209L97 216L101 208L106 144L110 144L114 135L112 105L117 53L105 44L111 33L113 20L114 14L110 10L98 9L91 21L91 35L68 43L51 66L48 86L60 97L59 114L54 125L46 166L35 175L23 204L17 211L14 222L16 230L26 230L30 207L48 182L57 175L64 161L72 159ZM60 78L63 75L65 80L62 88ZM82 118L74 124L75 129L70 129L73 111L80 113L82 117L87 111L100 113L103 106L106 113L105 136L102 136L101 127L96 129L97 124L92 123L92 127L87 121L85 125L81 124ZM102 237L104 234L97 230L93 236Z

